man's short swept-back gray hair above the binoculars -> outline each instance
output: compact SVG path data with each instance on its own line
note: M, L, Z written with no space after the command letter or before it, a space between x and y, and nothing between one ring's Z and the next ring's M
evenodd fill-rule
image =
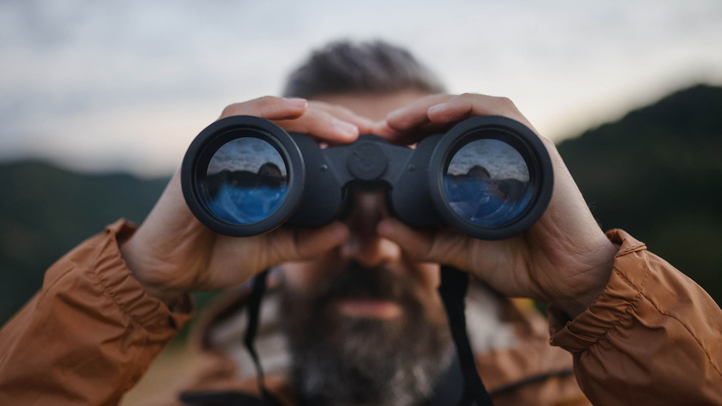
M293 71L285 97L314 98L344 93L388 94L403 90L439 93L444 86L404 48L381 40L330 43Z

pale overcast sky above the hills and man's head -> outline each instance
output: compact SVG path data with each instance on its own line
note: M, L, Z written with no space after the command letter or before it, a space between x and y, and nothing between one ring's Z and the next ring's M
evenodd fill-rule
M329 40L406 46L559 140L722 84L722 1L0 1L0 160L174 170L225 105Z

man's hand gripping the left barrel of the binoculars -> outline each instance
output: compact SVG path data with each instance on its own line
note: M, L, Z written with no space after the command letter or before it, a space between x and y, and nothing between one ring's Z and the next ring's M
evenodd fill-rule
M353 142L373 125L340 106L271 96L229 105L220 118L238 115L267 118L329 144ZM267 267L329 250L348 236L338 222L313 230L277 228L248 238L221 236L188 210L178 170L147 219L121 244L121 255L147 293L171 303L193 290L232 288Z

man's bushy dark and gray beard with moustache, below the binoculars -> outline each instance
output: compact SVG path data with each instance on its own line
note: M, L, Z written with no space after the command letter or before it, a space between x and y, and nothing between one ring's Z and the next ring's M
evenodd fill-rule
M373 270L362 270L374 275ZM342 274L345 272L342 272ZM448 327L432 323L409 282L378 270L378 280L341 275L313 298L284 289L281 323L291 351L292 375L300 401L318 406L417 406L432 395L436 379L451 363ZM337 278L339 279L339 278ZM404 314L393 321L350 318L329 306L344 297L338 286L386 285L381 297L398 301ZM329 295L329 292L334 292ZM383 292L384 288L373 288Z

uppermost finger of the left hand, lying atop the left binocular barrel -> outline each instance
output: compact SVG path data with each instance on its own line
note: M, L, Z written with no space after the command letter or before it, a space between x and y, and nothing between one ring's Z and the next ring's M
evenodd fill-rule
M308 102L301 98L264 96L243 103L234 103L223 109L219 118L229 116L257 116L269 120L287 120L305 113Z

